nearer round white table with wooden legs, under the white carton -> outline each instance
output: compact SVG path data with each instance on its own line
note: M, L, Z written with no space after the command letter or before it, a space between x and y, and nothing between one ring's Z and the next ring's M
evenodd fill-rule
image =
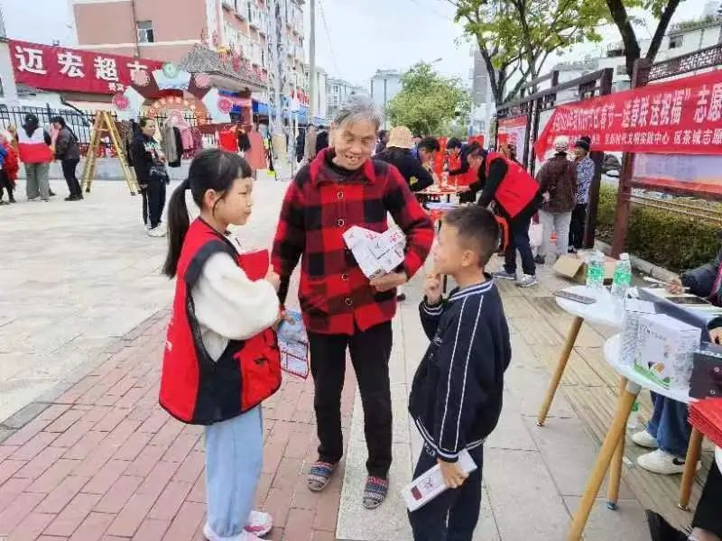
M651 381L633 366L619 362L621 358L621 335L614 335L604 344L604 358L606 362L621 376L619 399L616 405L615 417L612 419L602 447L597 454L597 460L592 472L589 475L587 486L582 494L579 508L574 514L569 529L569 540L581 539L584 527L587 524L589 513L597 498L599 488L604 481L606 472L609 472L609 489L607 491L607 507L616 509L616 501L619 496L619 481L622 475L622 459L625 449L626 421L632 412L634 402L639 391L642 389L651 390L658 395L667 397L678 402L690 404L696 401L690 397L690 389L665 389L661 385ZM690 445L687 449L684 472L682 474L680 487L681 509L688 509L690 494L695 475L697 463L702 448L702 434L694 427L690 436Z

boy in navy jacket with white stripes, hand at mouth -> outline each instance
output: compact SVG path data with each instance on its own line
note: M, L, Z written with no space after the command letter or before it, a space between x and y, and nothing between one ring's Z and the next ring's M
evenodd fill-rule
M512 351L499 291L486 263L499 243L494 215L479 206L444 219L421 324L431 344L413 379L409 411L424 440L414 479L439 463L449 487L409 515L415 541L471 541L481 508L483 445L502 409ZM458 283L441 298L440 274ZM466 449L478 469L458 468Z

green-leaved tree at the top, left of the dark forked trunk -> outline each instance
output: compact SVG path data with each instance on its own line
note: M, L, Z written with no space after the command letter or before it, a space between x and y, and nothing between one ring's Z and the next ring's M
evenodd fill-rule
M496 105L538 78L551 53L582 41L601 41L608 18L602 0L457 0L456 21L476 41ZM514 87L509 81L518 74Z

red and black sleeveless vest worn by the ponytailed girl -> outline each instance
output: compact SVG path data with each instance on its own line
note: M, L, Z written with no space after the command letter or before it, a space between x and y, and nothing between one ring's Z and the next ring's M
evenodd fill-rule
M163 354L161 406L194 425L236 417L281 386L281 356L273 330L245 341L229 341L218 361L203 346L190 291L205 262L217 252L226 252L241 266L233 245L202 220L195 220L180 252Z

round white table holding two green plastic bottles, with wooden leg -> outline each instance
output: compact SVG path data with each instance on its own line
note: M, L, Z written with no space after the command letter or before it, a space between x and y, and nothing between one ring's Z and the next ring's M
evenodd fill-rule
M571 350L574 349L574 344L577 342L577 336L579 336L579 330L581 329L582 323L585 321L589 324L609 326L615 329L622 328L622 322L624 320L624 309L622 307L622 301L612 297L607 289L591 289L587 286L572 286L566 288L564 291L569 293L576 293L584 297L596 298L597 302L594 304L586 305L580 302L569 300L568 298L556 297L557 305L574 316L574 321L571 322L569 327L569 333L567 339L564 342L564 347L561 350L559 361L554 369L554 373L551 375L551 381L549 382L549 389L547 390L546 397L542 402L542 408L539 411L537 417L537 426L544 426L549 409L551 408L551 402L554 400L559 389L561 377L564 375L564 370L567 368L567 362L569 362L569 356Z

